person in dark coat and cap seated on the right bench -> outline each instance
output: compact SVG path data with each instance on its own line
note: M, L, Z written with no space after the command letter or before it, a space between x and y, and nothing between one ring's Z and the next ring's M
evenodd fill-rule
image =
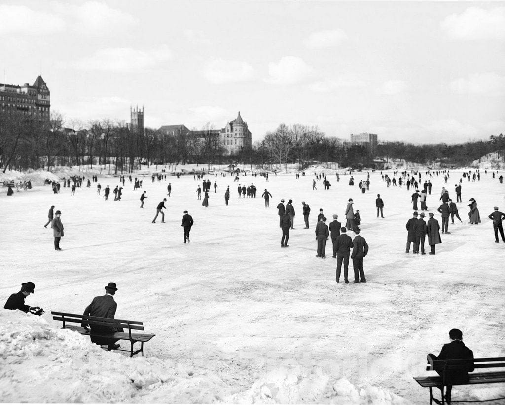
M455 359L455 358L474 358L473 351L470 350L468 347L465 346L465 343L463 343L463 333L459 329L451 329L449 331L449 340L450 343L446 343L442 347L442 351L438 356L435 356L434 354L429 353L428 356L430 356L433 360L448 360L448 359ZM445 382L446 382L446 393L445 393L445 400L447 402L450 402L450 391L452 390L452 384L455 383L465 383L468 382L468 373L474 371L474 364L473 362L468 363L468 367L466 370L464 368L459 369L459 370L447 370L446 375L445 375ZM440 375L443 381L443 371L437 371L437 373ZM443 395L443 387L439 387L440 390L442 391Z

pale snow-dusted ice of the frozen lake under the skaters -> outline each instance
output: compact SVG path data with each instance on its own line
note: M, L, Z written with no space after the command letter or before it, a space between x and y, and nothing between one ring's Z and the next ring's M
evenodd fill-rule
M379 173L372 173L370 191L360 194L357 184L366 179L366 172L354 173L355 186L348 186L348 176L341 172L338 183L334 174L329 175L330 190L323 190L322 182L318 182L318 190L313 191L311 174L308 170L307 176L299 179L294 174L270 174L269 182L260 176L242 175L240 182L233 182L229 175L209 175L206 178L212 184L217 181L219 188L217 194L211 188L208 208L196 199L201 182L194 181L192 175L179 179L167 176L161 183L151 183L146 175L143 187L135 192L127 179L121 201L104 201L103 196L96 195L96 183L91 188L84 183L75 196L63 187L58 195L51 187L41 186L15 192L13 197L7 197L6 189L2 189L0 297L5 302L19 291L22 282L34 282L35 294L26 302L43 307L47 312L42 318L56 329L60 324L52 320L49 311L82 312L93 296L102 295L104 286L114 281L119 289L116 316L143 321L146 332L157 335L146 344L146 355L183 365L195 375L212 375L206 381L214 381L213 387L226 387L219 395L228 401L259 400L259 396L251 399L255 392L269 401L267 388L274 386L267 384L289 377L290 372L281 370L302 370L294 375L304 381L320 381L310 375L311 368L317 367L328 381L345 378L358 391L374 385L382 387L377 390L424 402L428 390L412 377L428 374L424 371L426 353L438 353L448 342L451 328L463 331L466 344L476 356L503 355L505 244L494 243L492 224L487 219L493 206L505 209L505 188L497 178L482 171L480 182L464 179L463 203L458 204L464 223L449 224L451 234L442 235L435 256L418 256L405 253L412 189L387 188ZM451 172L446 185L453 198L460 176L461 172ZM425 178L423 172L423 181ZM440 205L443 176L435 175L431 181L427 205L435 212ZM100 177L98 182L103 188L110 185L111 191L119 184L112 177ZM156 205L166 197L169 182L172 193L167 197L166 223L159 217L153 224ZM258 197L238 199L238 183L254 183ZM227 185L231 190L228 207L224 203ZM269 208L260 197L265 188L273 195ZM148 198L144 209L139 209L143 190ZM377 193L384 200L384 219L376 218ZM327 245L328 258L315 257L319 208L328 217L327 223L333 213L345 222L349 197L355 201L355 210L360 210L361 235L370 246L364 261L367 283L360 285L335 283L336 260L331 258L331 244ZM477 226L466 223L470 197L477 200L482 218ZM291 198L296 210L296 229L291 231L288 249L280 248L275 208L280 198ZM308 230L303 229L302 200L312 209ZM55 211L62 211L62 252L53 248L52 230L43 228L51 205L56 206ZM183 244L181 227L184 210L195 221L187 245ZM438 213L435 217L440 221ZM11 313L8 316L12 322ZM0 317L4 328L8 326L5 317L4 313ZM19 318L20 323L25 322L22 314ZM82 355L86 341L75 348L76 358ZM127 345L122 342L123 347ZM100 356L122 356L102 353L91 344L86 347ZM38 355L43 356L43 350ZM30 362L26 361L26 367L16 369L21 376L29 373ZM2 362L5 365L5 357ZM9 363L2 369L2 396L9 398L5 396L10 386L5 378L12 375L14 366ZM65 373L65 368L59 370ZM96 372L97 381L105 378ZM42 373L39 378L45 381L51 377ZM255 385L258 381L266 382ZM78 386L78 381L73 383ZM28 380L22 379L19 384L30 389ZM314 388L314 384L307 384ZM322 393L327 392L324 387L318 391L319 397L313 392L292 398L289 390L281 387L274 389L279 396L270 400L321 402ZM498 387L456 387L453 398L487 397L486 392L495 397L503 393L496 390ZM149 399L209 401L216 391L210 389L211 396L206 396L197 395L198 390L205 391L198 386L191 390L193 396L181 393L167 397L160 393ZM40 393L38 399L70 400L51 392L47 390L46 396ZM350 402L358 401L349 398ZM131 400L142 401L139 397Z

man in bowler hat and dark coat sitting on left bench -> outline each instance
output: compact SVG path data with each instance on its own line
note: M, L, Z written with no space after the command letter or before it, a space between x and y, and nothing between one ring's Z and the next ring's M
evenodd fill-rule
M116 288L116 283L109 283L107 287L105 287L105 295L94 297L93 301L84 309L83 315L91 316L91 317L102 317L102 318L112 318L116 314L116 309L118 304L114 301L114 294L116 294L118 289ZM88 329L88 325L86 323L82 323L81 327L84 329ZM90 325L91 333L95 334L114 334L116 332L123 332L122 328L113 328L110 326L97 326ZM90 336L91 342L99 344L99 345L107 345L107 350L114 350L119 348L119 344L116 342L119 339L104 338L104 337L95 337Z

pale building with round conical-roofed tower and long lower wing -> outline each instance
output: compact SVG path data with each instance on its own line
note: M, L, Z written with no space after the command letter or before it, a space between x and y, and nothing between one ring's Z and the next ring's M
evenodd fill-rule
M238 154L243 149L250 149L252 145L252 134L247 127L247 123L240 116L240 111L238 112L237 118L229 121L222 129L191 131L185 125L180 124L164 125L159 130L172 136L186 134L197 139L204 139L209 135L216 137L223 147L224 153L227 155Z

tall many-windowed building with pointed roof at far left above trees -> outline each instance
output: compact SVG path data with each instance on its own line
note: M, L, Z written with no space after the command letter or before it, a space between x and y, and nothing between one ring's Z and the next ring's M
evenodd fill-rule
M0 112L21 113L30 119L49 121L50 92L42 76L33 85L0 84Z

